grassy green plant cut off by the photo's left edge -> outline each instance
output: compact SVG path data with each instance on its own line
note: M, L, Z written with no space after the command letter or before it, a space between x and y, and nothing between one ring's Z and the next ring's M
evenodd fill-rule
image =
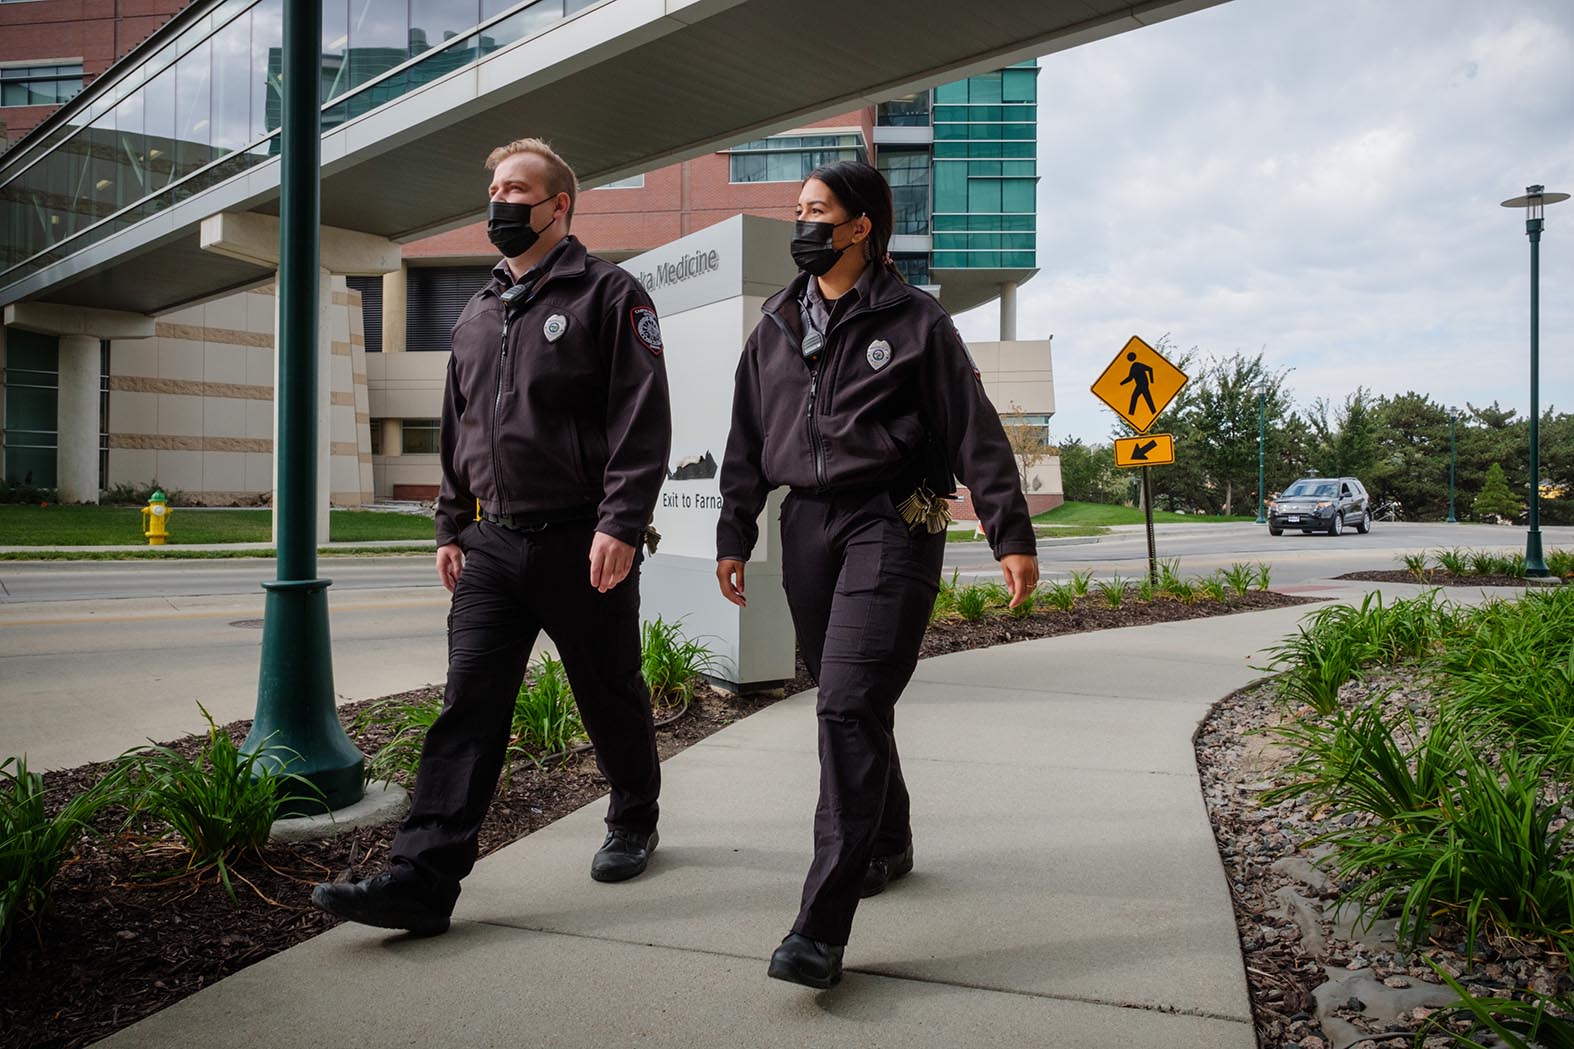
M0 761L0 953L19 921L42 912L55 874L93 819L124 800L124 780L110 772L54 816L44 795L44 777L28 772L27 758Z

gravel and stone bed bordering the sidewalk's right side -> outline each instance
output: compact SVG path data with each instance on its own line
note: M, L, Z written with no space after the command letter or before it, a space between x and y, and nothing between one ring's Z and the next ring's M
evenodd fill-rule
M1387 695L1396 710L1417 710L1429 706L1428 688L1426 680L1396 671L1347 684L1344 693L1350 701ZM1221 699L1195 739L1259 1049L1415 1044L1426 1021L1454 1000L1428 959L1478 997L1574 988L1566 959L1536 943L1487 936L1467 956L1456 925L1440 923L1428 942L1409 945L1391 936L1391 920L1363 929L1338 914L1339 880L1321 863L1327 846L1311 841L1355 817L1300 800L1259 802L1264 789L1284 781L1292 758L1262 734L1284 718L1273 684L1259 684ZM1447 1030L1431 1032L1426 1049L1459 1044Z

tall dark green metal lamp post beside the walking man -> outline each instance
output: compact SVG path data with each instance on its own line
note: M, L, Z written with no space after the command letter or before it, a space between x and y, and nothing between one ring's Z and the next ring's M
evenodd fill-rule
M242 745L323 792L282 814L337 810L362 794L365 756L334 704L327 588L316 578L316 337L323 0L285 0L279 158L279 558L263 583L257 718Z

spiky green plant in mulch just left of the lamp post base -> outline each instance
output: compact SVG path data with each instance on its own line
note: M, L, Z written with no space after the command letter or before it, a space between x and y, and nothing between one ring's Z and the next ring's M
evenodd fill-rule
M131 789L131 816L151 816L179 838L187 873L217 869L225 891L235 896L230 865L242 854L260 852L285 802L321 800L312 783L275 765L280 754L291 764L299 754L266 740L253 753L241 748L208 721L208 742L197 758L184 758L168 747L151 747L121 756Z

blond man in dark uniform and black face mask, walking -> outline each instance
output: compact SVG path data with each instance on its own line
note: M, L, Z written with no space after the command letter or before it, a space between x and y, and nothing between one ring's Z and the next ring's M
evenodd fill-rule
M521 139L486 167L504 260L453 326L439 443L436 567L453 592L442 714L389 868L312 893L342 918L422 934L449 928L475 863L540 630L612 788L590 876L634 877L656 847L637 547L671 447L661 326L641 284L568 233L578 184L551 146Z

